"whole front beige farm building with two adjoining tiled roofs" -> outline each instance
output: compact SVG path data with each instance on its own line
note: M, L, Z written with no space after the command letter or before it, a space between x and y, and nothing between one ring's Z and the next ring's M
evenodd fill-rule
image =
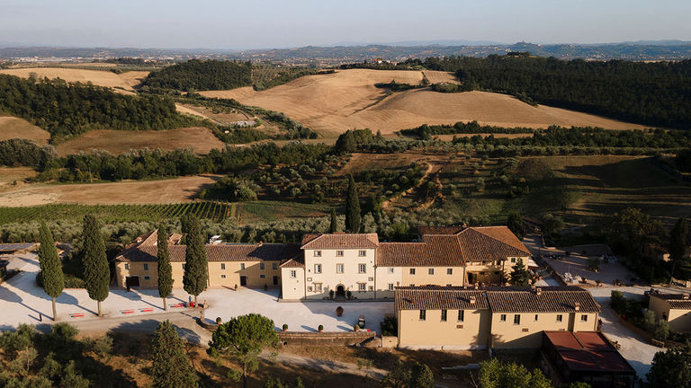
M398 287L399 348L540 348L543 331L595 331L579 287Z

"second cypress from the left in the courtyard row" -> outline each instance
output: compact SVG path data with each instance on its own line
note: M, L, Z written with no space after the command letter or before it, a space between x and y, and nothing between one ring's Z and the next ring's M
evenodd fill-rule
M111 270L105 257L105 242L101 234L101 225L93 215L84 216L84 278L89 297L98 302L98 316L101 313L101 302L108 297L108 286L111 282Z

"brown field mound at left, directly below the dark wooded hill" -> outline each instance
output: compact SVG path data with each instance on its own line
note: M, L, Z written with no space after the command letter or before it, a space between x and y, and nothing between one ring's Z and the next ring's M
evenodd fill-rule
M58 154L76 154L93 149L111 154L122 154L132 149L175 150L193 147L199 154L208 154L213 148L223 148L225 143L211 133L209 128L176 128L160 131L121 131L98 129L59 144Z

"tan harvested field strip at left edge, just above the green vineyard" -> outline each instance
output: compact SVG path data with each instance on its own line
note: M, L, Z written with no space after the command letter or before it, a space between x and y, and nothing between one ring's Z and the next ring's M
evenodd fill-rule
M50 203L117 205L188 202L219 179L217 175L201 175L162 181L30 186L5 191L0 194L0 203L5 207L27 207Z

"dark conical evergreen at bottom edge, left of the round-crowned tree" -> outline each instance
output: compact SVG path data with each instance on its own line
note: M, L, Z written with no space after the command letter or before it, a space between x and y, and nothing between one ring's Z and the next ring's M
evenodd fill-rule
M151 341L151 377L156 388L199 386L197 376L170 321L160 322Z

